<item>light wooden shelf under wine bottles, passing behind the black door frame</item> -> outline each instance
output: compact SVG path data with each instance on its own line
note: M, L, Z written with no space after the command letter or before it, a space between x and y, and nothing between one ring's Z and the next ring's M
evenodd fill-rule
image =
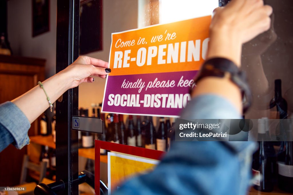
M50 148L56 149L56 145L53 142L53 136L30 136L30 142L37 143L42 146L49 146ZM95 160L95 148L79 148L78 155ZM108 163L107 155L101 155L100 162Z

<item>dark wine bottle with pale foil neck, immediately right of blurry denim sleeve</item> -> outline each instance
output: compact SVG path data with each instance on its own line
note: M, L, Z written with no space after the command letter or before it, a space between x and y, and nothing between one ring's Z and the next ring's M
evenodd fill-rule
M270 142L265 141L265 121L258 119L258 150L253 154L252 171L255 176L254 188L258 191L270 192L274 188L272 167L274 165L273 155L270 152L274 149Z

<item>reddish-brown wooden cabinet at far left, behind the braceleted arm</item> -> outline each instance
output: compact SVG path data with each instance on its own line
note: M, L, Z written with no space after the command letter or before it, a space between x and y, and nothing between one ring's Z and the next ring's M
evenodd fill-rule
M0 55L0 103L13 100L45 79L45 60L27 57ZM38 134L38 120L31 124L29 136ZM23 155L21 150L10 145L0 153L0 184L19 184Z

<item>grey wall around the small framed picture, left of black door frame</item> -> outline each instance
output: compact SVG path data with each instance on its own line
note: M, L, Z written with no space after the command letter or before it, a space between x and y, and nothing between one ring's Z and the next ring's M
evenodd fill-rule
M57 0L50 0L50 31L32 37L32 1L7 3L8 38L14 55L46 59L46 78L56 70Z

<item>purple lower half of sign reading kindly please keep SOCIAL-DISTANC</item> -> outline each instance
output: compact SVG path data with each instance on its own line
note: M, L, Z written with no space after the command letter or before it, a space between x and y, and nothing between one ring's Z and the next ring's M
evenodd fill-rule
M108 76L103 112L179 116L198 71Z

